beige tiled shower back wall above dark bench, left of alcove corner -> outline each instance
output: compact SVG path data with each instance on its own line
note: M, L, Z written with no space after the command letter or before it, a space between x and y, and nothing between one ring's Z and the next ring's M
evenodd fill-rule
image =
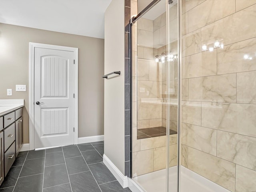
M138 129L162 126L162 66L154 61L153 21L137 22Z

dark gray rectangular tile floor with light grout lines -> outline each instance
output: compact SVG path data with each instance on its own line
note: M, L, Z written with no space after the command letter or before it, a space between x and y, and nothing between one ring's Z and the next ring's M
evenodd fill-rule
M20 152L0 192L131 192L102 162L104 142Z

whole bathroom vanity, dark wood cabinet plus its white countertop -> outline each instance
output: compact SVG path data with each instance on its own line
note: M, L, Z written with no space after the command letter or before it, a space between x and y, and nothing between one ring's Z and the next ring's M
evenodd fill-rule
M0 184L23 144L23 99L0 99Z

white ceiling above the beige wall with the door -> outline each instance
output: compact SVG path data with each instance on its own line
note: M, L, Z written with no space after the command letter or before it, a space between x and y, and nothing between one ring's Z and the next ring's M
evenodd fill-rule
M0 23L104 38L111 0L0 0Z

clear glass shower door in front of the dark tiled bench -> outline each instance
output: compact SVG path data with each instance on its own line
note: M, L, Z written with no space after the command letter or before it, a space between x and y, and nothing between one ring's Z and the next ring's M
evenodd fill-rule
M137 113L132 130L132 178L147 192L176 192L177 4L169 5L168 0L153 2L157 3L132 26L132 38L137 40L132 50Z

